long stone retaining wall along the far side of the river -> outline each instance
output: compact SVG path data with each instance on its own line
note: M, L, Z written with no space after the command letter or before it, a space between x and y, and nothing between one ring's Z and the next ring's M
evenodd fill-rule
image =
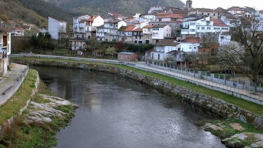
M201 106L203 109L210 110L222 117L238 118L242 122L254 123L259 129L263 129L263 117L253 114L247 110L237 107L233 104L227 103L224 100L210 97L181 86L172 85L163 80L158 80L151 76L146 76L140 73L126 70L124 68L99 65L99 64L84 64L79 62L56 62L46 60L31 60L23 62L30 62L33 65L54 66L63 68L87 69L91 71L100 71L119 75L121 77L129 78L140 83L152 86L165 94L176 96L178 99Z

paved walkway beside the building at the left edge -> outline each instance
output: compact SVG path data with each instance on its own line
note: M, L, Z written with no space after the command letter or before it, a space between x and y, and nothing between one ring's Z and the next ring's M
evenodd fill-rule
M26 67L26 65L12 63L10 71L4 77L0 77L0 93L12 86Z

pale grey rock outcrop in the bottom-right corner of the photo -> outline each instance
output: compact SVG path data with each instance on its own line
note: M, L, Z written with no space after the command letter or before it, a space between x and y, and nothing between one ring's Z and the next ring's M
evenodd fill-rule
M228 147L237 147L240 143L242 143L242 141L246 141L246 138L248 137L250 138L250 141L253 141L253 143L249 146L245 146L244 148L263 147L263 135L251 132L235 134L230 138L221 140L221 142L226 144Z

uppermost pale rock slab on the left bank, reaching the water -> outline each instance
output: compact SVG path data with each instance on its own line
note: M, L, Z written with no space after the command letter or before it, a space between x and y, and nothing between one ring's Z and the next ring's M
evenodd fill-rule
M52 106L72 105L75 109L79 108L79 106L76 103L72 103L70 101L67 101L67 100L59 98L59 97L47 96L45 94L40 94L40 96L51 101L51 103L45 103L48 105L52 105Z

